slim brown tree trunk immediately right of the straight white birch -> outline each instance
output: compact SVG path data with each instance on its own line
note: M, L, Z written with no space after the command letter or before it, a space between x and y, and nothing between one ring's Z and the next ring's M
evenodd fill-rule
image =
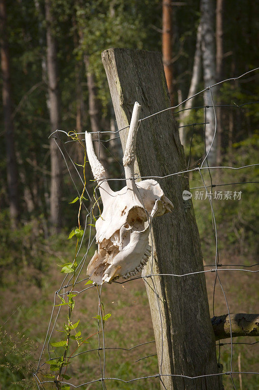
M223 78L223 6L224 0L217 0L216 7L216 77L217 81ZM219 92L216 102L221 104ZM222 144L222 107L217 108L217 165L221 164Z

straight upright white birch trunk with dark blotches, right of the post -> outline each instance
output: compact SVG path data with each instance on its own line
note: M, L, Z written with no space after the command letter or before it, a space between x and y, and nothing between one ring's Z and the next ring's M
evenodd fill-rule
M203 58L203 78L204 85L208 87L215 84L216 67L215 67L215 42L214 42L214 2L212 0L201 0L201 29L202 29L202 58ZM215 94L215 88L212 90ZM212 106L210 90L204 92L204 105ZM215 116L213 108L206 109L206 154L208 165L216 165L217 153L217 134L215 133ZM214 141L212 144L212 140ZM211 146L212 144L212 146Z

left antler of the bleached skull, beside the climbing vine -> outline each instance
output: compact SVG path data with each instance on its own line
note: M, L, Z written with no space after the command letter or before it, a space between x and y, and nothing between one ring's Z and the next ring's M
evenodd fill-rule
M104 204L105 199L107 199L109 195L112 195L113 191L111 190L107 182L105 169L94 153L92 136L91 134L87 133L87 131L86 131L86 152L87 152L87 157L88 157L89 164L91 166L93 176L99 184L99 190Z

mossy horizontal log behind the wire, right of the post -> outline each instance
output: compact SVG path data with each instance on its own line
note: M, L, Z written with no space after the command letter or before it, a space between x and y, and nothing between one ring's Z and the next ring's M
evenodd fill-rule
M232 337L259 336L259 314L230 314ZM216 340L230 337L228 314L211 318Z

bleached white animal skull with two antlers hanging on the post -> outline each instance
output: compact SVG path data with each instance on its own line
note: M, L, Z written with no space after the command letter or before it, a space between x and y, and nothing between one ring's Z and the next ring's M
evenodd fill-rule
M98 251L87 267L87 274L96 284L112 282L120 276L128 279L141 271L151 255L148 237L153 218L173 210L172 202L155 180L135 183L133 179L140 108L136 102L123 156L126 187L120 191L109 187L91 135L86 132L87 156L103 201L102 215L96 221Z

